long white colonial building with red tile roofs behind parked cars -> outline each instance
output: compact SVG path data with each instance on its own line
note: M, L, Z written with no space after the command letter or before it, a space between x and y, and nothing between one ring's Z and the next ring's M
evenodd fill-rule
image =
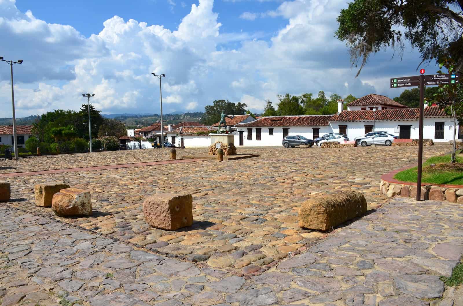
M372 131L386 131L406 139L419 137L418 108L407 108L375 94L356 101L344 111L343 101L338 101L338 112L334 115L271 116L236 124L235 146L281 146L286 135L315 139L326 133L341 133L350 140ZM457 129L457 137L463 138L463 127ZM425 107L423 137L434 142L453 139L453 122L444 110Z

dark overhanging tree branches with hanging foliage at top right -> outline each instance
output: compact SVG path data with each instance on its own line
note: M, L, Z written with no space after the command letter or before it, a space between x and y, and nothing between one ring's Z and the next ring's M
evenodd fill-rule
M341 10L336 36L350 48L352 66L360 62L357 76L372 53L392 47L401 56L404 38L419 49L421 62L446 55L461 71L462 10L462 0L354 0Z

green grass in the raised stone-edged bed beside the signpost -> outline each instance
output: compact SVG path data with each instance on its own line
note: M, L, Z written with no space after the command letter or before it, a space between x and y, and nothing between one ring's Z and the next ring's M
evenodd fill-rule
M448 163L450 164L451 155L442 155L442 156L434 156L427 159L423 163L423 169L430 169L429 166L431 164L442 164ZM463 157L457 155L457 163L463 163ZM413 167L404 171L400 171L394 178L399 181L403 182L413 182L416 183L418 177L417 167ZM456 184L456 185L463 185L463 171L459 170L446 170L446 171L423 171L421 181L423 183L429 184Z

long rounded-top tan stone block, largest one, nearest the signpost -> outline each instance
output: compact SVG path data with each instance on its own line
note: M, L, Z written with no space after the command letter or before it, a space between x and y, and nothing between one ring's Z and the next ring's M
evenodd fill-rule
M339 224L365 214L367 202L358 191L318 196L302 203L299 226L327 231Z

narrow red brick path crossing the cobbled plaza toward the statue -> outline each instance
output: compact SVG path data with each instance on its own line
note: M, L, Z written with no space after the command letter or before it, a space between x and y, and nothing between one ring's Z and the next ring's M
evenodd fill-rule
M54 173L66 173L66 172L77 172L77 171L92 171L92 170L107 170L107 169L154 166L154 165L178 164L178 163L191 163L194 161L204 161L204 159L175 159L175 160L163 160L163 161L150 161L146 163L104 165L104 166L53 169L53 170L30 171L30 172L0 173L0 177L25 177L29 175L54 174Z

